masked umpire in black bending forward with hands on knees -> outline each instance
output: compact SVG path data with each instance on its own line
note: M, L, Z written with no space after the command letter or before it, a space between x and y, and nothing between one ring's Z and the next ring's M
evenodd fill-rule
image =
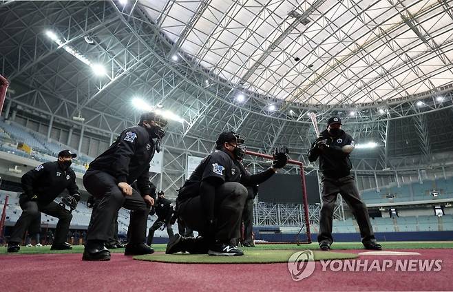
M89 164L83 185L96 204L89 221L83 260L110 260L105 242L121 207L131 210L125 255L154 252L145 244L149 207L154 205L149 163L158 151L156 146L165 135L166 125L167 121L157 114L143 114L137 126L125 129L109 149ZM135 181L140 194L131 187Z

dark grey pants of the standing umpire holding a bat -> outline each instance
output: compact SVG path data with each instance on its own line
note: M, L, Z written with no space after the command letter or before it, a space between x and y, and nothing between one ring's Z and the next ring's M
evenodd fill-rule
M355 220L357 220L357 224L359 225L362 242L364 244L375 242L375 233L372 231L368 209L364 201L360 198L354 176L345 176L344 178L326 178L323 176L322 183L322 208L318 233L319 244L332 244L333 242L332 220L338 194L344 198L352 210Z

